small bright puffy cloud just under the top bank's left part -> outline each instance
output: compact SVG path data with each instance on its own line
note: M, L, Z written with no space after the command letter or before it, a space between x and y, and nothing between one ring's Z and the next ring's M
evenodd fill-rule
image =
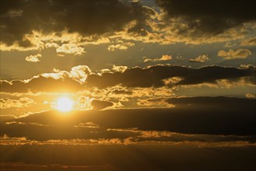
M62 44L60 47L56 49L58 54L74 54L74 55L82 55L85 54L83 47L78 47L76 44Z

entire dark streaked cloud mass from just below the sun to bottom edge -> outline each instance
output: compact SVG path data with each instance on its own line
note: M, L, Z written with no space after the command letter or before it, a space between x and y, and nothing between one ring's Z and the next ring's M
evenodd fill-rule
M254 170L255 100L184 97L166 99L176 105L171 109L87 110L65 116L52 110L9 118L0 127L0 166Z

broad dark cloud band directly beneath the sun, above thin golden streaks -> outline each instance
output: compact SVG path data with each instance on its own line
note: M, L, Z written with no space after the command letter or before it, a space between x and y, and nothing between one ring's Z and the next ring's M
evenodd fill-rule
M255 99L231 97L191 97L167 99L176 106L170 109L122 109L73 111L62 117L57 111L31 114L15 120L36 124L1 124L1 134L27 138L118 138L120 134L102 131L89 133L92 127L73 127L93 122L100 127L130 128L142 131L171 131L184 134L255 134ZM65 125L65 127L63 127ZM44 132L44 134L40 134ZM60 133L63 134L60 134ZM86 134L85 134L86 133ZM133 133L133 132L131 132ZM129 134L122 134L128 137Z

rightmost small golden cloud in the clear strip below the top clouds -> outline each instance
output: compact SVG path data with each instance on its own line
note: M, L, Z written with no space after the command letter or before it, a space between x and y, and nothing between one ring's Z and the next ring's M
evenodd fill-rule
M247 58L250 55L251 55L251 51L248 49L237 49L237 51L233 51L232 49L230 49L229 51L221 50L218 52L218 56L226 60L237 59L237 58Z

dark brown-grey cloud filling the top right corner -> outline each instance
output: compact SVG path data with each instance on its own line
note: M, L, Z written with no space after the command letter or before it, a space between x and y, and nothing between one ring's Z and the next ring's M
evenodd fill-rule
M232 2L156 0L156 3L167 13L167 19L184 19L188 24L187 31L195 30L197 33L219 34L233 26L256 19L254 13L256 4L251 0Z

